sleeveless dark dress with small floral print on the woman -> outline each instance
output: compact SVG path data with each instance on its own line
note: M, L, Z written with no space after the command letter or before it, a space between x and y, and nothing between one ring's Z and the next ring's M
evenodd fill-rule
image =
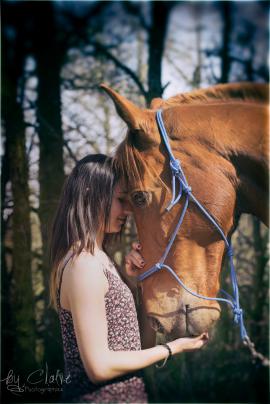
M72 314L60 304L64 268L72 256L66 257L57 290L57 306L64 349L65 376L64 402L81 403L147 403L147 394L141 372L130 373L107 382L94 384L88 378L76 341ZM133 295L128 286L111 268L104 267L109 283L105 295L108 324L108 346L113 351L141 349L140 333ZM114 269L114 272L112 271Z

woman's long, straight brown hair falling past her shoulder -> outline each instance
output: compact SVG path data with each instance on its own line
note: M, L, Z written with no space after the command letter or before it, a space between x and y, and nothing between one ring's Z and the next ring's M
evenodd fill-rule
M59 265L69 250L94 253L98 232L109 225L114 187L120 172L111 157L88 155L80 160L65 181L56 211L50 240L50 298L56 305ZM113 236L107 234L104 247Z

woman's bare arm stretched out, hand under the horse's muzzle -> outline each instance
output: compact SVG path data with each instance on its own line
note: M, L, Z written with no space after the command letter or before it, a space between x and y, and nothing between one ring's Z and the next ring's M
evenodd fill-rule
M94 383L145 368L167 357L168 351L162 346L141 351L109 350L104 301L108 281L94 257L81 254L68 274L66 285L81 359ZM198 349L204 343L202 338L184 338L169 345L176 354Z

